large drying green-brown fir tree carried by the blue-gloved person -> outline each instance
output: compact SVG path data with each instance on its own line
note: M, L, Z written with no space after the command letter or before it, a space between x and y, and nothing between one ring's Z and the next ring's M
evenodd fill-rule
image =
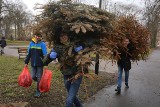
M48 3L43 6L43 12L38 17L39 24L34 29L45 34L54 46L57 45L59 28L69 35L73 46L85 44L85 49L75 58L78 65L91 62L87 53L100 52L99 47L103 45L101 40L110 36L108 32L113 29L111 22L115 20L115 16L109 12L68 1Z

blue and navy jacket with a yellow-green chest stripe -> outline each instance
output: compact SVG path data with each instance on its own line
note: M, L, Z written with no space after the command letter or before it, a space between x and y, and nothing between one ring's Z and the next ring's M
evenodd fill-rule
M47 55L46 44L43 41L35 43L31 41L28 47L28 55L25 59L25 64L31 60L31 66L43 66L42 59Z

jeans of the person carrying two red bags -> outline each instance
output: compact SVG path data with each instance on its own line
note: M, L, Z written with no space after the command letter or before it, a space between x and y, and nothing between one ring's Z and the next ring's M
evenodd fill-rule
M37 91L39 91L39 82L43 74L43 67L31 66L31 77L34 81L37 81Z

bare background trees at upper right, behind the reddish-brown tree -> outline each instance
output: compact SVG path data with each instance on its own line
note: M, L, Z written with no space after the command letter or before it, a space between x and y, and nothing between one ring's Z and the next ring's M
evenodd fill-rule
M86 0L73 0L84 2ZM156 47L157 33L160 30L160 0L141 0L145 3L144 8L139 8L133 3L126 5L121 2L112 3L110 0L99 0L99 7L117 16L134 15L140 23L145 24L151 33L151 47Z

